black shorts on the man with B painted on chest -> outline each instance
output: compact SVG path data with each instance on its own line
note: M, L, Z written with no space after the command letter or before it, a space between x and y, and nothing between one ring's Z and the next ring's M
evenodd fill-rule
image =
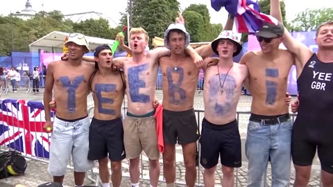
M173 112L163 109L163 139L167 144L184 145L196 142L200 137L194 109Z

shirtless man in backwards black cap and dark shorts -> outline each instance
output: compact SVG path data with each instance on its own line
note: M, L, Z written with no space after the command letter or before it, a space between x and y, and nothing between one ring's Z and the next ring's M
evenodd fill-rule
M99 161L102 187L110 186L108 156L111 161L112 186L121 184L121 161L125 159L121 105L125 91L123 73L112 70L110 46L95 49L98 70L92 75L91 89L94 98L94 118L89 130L89 160Z

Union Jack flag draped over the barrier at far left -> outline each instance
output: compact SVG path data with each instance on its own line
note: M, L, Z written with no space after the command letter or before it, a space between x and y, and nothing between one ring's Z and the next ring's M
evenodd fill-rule
M0 100L0 145L22 154L49 158L50 136L44 132L44 105L26 100ZM55 112L51 112L51 119Z

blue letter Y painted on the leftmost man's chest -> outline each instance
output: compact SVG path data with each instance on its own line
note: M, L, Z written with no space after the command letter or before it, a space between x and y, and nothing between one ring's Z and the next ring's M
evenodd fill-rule
M76 108L76 89L85 80L84 75L78 75L74 78L73 82L69 80L68 76L60 77L62 87L67 88L67 112L74 113Z

